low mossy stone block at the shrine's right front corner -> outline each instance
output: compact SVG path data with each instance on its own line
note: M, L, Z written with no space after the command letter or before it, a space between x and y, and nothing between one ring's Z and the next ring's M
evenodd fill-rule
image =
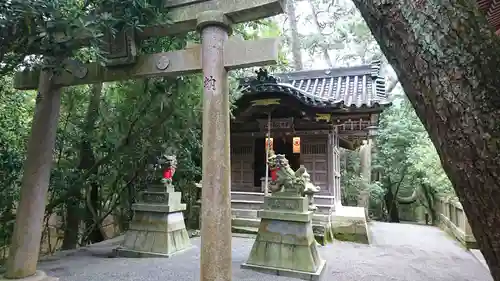
M370 232L363 207L337 207L332 214L332 229L337 240L370 244Z

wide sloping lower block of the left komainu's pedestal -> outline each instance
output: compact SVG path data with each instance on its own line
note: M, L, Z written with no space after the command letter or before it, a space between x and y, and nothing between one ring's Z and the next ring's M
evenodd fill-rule
M154 220L158 213L134 220L125 234L123 244L116 249L118 256L168 257L191 248L191 240L184 225L182 212L165 214Z

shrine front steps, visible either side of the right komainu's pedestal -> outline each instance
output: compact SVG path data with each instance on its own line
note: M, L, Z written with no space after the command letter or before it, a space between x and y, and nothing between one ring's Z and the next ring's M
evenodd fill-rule
M318 236L321 236L324 227L330 221L334 211L333 196L316 195L314 200L318 209L314 213L313 228ZM260 192L231 192L231 214L233 232L257 233L260 219L257 211L264 204L264 193Z

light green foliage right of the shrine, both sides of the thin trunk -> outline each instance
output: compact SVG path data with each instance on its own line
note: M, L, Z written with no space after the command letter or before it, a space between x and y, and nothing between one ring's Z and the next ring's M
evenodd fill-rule
M418 220L422 219L415 213L419 206L432 214L434 196L454 192L411 104L398 92L394 96L393 106L380 117L369 186L360 177L359 151L342 151L342 201L356 206L360 191L366 188L370 191L369 211L373 218L394 220L388 212L395 208L401 219Z

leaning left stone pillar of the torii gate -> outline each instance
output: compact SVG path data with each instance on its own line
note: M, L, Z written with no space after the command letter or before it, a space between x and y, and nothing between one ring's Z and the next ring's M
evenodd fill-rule
M61 87L42 71L4 279L56 281L37 271L43 217L61 108ZM0 277L1 279L1 277Z

